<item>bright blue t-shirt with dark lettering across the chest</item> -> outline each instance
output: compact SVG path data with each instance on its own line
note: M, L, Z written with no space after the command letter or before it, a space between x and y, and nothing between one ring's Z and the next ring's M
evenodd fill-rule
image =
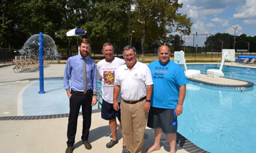
M154 61L147 66L150 67L154 83L151 106L175 109L180 86L188 83L184 71L172 61L165 65L160 61Z

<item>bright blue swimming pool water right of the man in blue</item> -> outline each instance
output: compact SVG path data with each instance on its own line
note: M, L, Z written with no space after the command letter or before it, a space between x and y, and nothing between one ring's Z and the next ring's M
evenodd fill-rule
M188 65L188 69L218 69ZM223 67L225 77L256 83L256 69ZM255 87L255 86L254 86ZM208 152L255 152L256 91L187 85L178 132Z

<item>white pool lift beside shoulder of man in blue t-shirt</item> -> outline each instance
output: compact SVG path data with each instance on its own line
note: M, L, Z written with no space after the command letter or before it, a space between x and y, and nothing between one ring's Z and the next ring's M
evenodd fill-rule
M174 52L174 63L184 65L186 78L197 78L201 74L201 71L199 70L186 68L186 59L184 58L184 52L182 50L180 52Z

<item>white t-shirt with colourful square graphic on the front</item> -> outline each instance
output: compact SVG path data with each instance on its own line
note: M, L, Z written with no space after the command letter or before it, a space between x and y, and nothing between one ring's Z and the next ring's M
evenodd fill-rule
M125 61L115 57L112 62L106 62L105 59L97 64L97 79L102 81L102 99L108 103L113 103L113 89L115 83L115 73L119 66L124 65ZM117 101L121 102L120 94Z

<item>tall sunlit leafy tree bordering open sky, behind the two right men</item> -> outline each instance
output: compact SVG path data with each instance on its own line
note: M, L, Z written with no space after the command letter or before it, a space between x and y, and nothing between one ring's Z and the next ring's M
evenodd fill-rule
M142 54L145 44L158 40L165 44L168 33L190 33L192 23L186 15L177 13L182 4L178 0L136 0L134 1L133 29L139 30Z

